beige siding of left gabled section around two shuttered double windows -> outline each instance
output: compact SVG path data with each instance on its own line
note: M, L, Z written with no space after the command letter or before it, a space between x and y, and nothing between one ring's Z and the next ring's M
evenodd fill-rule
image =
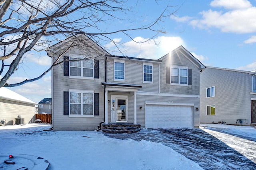
M81 51L81 49L83 49ZM76 54L84 56L97 57L95 51L90 53L90 50L83 48L73 48L68 51L64 56L76 57ZM53 57L55 60L56 57ZM104 88L101 83L105 81L105 61L104 55L97 57L99 59L99 78L94 80L83 78L69 78L64 76L64 65L60 64L55 66L52 70L52 121L54 131L58 130L95 130L98 128L100 122L104 119ZM94 90L94 93L99 93L99 115L94 117L69 117L63 115L63 92L72 90Z

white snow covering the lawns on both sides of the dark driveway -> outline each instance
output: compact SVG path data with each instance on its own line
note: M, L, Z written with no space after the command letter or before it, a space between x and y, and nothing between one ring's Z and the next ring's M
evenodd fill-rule
M96 131L43 131L50 127L35 123L0 126L0 153L40 156L50 162L50 170L202 169L160 143L114 139ZM256 129L249 126L201 124L200 128L234 149L238 148L225 140L225 133L256 139Z

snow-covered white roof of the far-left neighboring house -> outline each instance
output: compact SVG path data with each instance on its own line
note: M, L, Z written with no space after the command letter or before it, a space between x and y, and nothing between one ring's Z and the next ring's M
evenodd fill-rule
M4 100L11 100L15 102L37 105L36 102L33 102L32 100L29 100L28 98L25 98L24 96L21 96L20 94L15 93L12 90L9 90L5 87L0 88L0 98Z

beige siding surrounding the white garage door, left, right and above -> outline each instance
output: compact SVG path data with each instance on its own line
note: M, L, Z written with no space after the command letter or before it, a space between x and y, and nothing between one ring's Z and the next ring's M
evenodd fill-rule
M199 108L199 98L187 98L187 97L168 97L168 96L148 96L137 95L137 123L141 127L145 127L145 102L156 102L170 104L168 101L172 101L172 104L194 104L194 127L199 127L199 111L195 111L195 108ZM139 109L142 106L142 109ZM193 107L192 107L193 108Z

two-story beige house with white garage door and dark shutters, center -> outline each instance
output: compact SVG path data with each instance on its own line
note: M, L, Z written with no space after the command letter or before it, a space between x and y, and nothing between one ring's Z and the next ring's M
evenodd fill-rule
M164 57L142 59L110 55L86 36L52 46L54 63L65 44L65 61L52 70L52 126L95 130L100 123L141 127L199 127L199 74L205 66L180 46ZM90 57L90 59L86 59Z

